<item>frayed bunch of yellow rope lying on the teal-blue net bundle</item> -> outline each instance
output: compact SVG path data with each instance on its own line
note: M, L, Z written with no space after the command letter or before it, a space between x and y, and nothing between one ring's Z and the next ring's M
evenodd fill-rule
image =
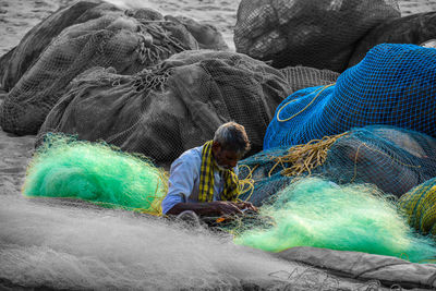
M327 159L327 151L331 145L340 137L349 134L344 132L338 135L324 136L322 140L313 140L304 145L296 145L288 150L288 154L282 157L272 157L276 161L268 175L270 177L274 169L281 165L283 170L282 175L293 177L300 175L303 172L312 173L312 170L323 165ZM284 163L290 163L286 167Z

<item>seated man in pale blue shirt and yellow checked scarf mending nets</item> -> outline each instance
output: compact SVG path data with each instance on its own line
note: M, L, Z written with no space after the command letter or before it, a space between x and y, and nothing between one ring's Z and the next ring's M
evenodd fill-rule
M228 122L218 128L214 141L183 153L171 165L164 215L191 210L199 216L229 216L256 210L251 203L237 202L235 166L249 149L244 126Z

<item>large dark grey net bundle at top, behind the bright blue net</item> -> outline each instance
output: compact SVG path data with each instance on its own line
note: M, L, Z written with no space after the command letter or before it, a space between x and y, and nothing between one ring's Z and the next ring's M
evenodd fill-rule
M399 16L397 0L242 0L234 44L275 68L342 72L360 38Z

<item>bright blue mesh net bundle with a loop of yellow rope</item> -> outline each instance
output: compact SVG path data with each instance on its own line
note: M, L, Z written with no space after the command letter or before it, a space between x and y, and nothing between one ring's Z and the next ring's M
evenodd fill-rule
M337 83L299 90L276 110L264 149L387 124L436 136L436 50L384 44Z

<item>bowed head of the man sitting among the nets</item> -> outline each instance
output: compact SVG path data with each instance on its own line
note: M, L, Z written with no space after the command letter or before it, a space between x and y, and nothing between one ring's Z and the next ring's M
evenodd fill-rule
M244 126L228 122L215 132L211 151L220 168L231 169L250 150L250 141Z

